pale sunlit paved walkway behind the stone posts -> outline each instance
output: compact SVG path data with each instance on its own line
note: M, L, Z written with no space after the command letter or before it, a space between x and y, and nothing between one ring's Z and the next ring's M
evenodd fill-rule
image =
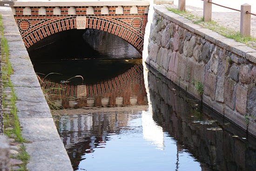
M247 3L251 5L251 13L256 14L256 0L212 0L212 2L238 10L241 10L241 5ZM178 8L178 0L174 0L174 6ZM186 0L186 11L202 17L203 1ZM212 4L212 20L230 29L240 30L240 12ZM253 15L251 15L251 36L256 37L256 16Z

